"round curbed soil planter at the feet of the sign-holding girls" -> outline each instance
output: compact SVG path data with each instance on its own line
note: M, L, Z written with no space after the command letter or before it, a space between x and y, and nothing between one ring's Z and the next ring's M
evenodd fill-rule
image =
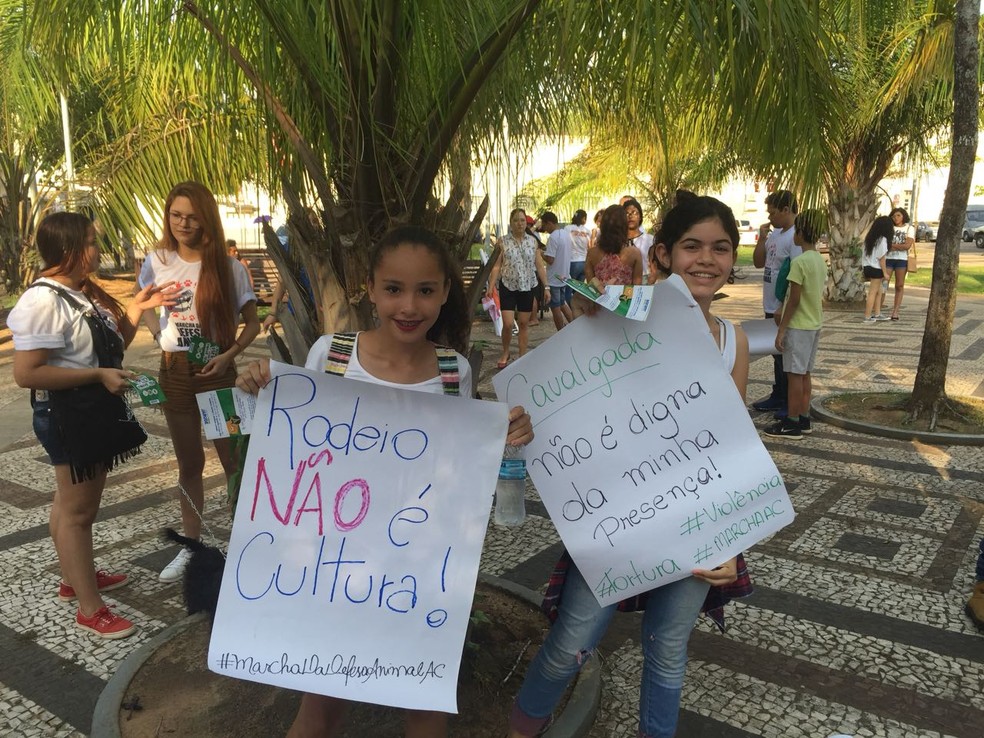
M489 622L476 618L470 629L469 639L477 647L465 649L458 686L460 714L451 718L452 736L501 738L505 732L513 695L546 630L537 609L539 599L511 582L480 577L473 610L485 613ZM99 697L93 738L284 735L299 694L209 672L208 633L205 618L189 617L130 654ZM592 660L545 736L586 735L600 696L601 672ZM133 709L137 699L142 709ZM402 713L390 708L354 705L346 724L346 735L351 736L402 735Z

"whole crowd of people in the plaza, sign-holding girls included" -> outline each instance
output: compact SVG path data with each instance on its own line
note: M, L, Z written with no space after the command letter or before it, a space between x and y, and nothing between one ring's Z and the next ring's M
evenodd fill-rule
M752 407L775 414L777 422L765 429L767 435L800 439L812 431L811 372L823 323L827 265L816 250L816 214L798 212L796 198L786 190L769 194L765 202L769 223L762 228L753 261L763 269L763 308L776 323L777 353L772 392ZM576 211L567 227L549 211L535 220L519 208L510 213L488 285L489 295L498 293L503 316L498 367L512 358L514 323L518 355L529 351L528 329L538 297L549 307L557 330L575 319L578 311L572 309L574 296L566 279L603 289L651 284L675 274L701 310L700 332L706 328L715 341L720 361L744 399L748 340L740 327L711 310L737 260L739 234L731 209L715 198L680 191L655 232L645 231L642 218L642 206L631 197L599 210L594 229L587 226L584 210ZM889 319L898 317L910 230L901 208L872 224L863 256L869 283L866 322L883 319L883 285L892 276L896 288ZM547 234L545 244L536 233ZM44 264L41 277L24 292L7 322L14 338L14 378L32 390L34 430L55 471L50 531L62 574L58 596L77 601L80 628L103 638L123 638L135 626L115 614L102 594L127 584L127 575L97 568L92 541L107 473L139 452L146 440L122 400L134 379L122 368L123 350L141 324L160 347L158 381L167 397L163 412L177 461L180 520L185 536L199 539L205 451L194 396L232 386L256 393L269 381L268 361L236 370L237 356L261 329L256 296L235 243L226 242L215 198L197 182L182 182L168 194L161 240L145 260L139 290L126 307L92 278L99 250L87 218L50 215L36 240ZM545 288L539 295L538 286ZM470 312L447 245L424 228L393 229L371 252L366 287L375 307L375 327L323 336L312 347L306 367L412 391L470 397L475 381L465 358ZM521 446L532 438L529 415L522 407L511 408L506 442ZM229 442L214 446L228 476L234 464ZM180 579L188 560L188 551L181 549L160 573L161 581ZM601 607L565 552L546 594L553 625L516 696L509 735L539 734L620 610L644 613L639 734L674 735L687 642L696 618L750 591L741 556L690 574ZM967 609L981 623L984 541L977 575L981 583ZM332 735L345 711L344 700L305 695L289 735ZM407 711L408 736L443 736L446 725L444 713Z

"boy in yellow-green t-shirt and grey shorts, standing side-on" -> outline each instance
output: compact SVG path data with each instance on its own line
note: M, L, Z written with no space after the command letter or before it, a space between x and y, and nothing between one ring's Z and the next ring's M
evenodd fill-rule
M827 262L816 249L818 221L815 211L796 216L794 240L803 253L790 263L789 292L781 314L775 314L779 324L776 348L782 352L782 368L789 388L789 414L765 429L765 435L774 438L799 440L803 434L813 431L810 372L820 343L823 288L827 282Z

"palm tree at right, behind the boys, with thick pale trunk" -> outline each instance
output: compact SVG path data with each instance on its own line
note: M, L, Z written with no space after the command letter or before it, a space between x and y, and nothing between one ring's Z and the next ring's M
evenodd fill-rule
M877 215L878 183L890 168L931 158L946 138L953 75L953 4L938 0L826 3L834 70L825 90L824 145L812 152L819 179L798 178L807 200L825 198L830 235L826 299L863 297L861 241ZM754 150L758 144L752 141ZM796 158L810 156L798 137ZM763 161L759 152L752 154ZM794 171L785 167L785 171ZM816 186L819 184L819 188ZM817 190L820 189L820 193Z

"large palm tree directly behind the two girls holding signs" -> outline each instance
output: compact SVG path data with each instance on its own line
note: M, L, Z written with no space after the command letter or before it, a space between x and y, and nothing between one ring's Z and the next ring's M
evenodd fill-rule
M104 39L98 47L133 75L121 80L114 105L125 107L123 95L143 105L133 125L118 131L135 131L140 116L154 112L140 87L146 79L155 92L170 84L173 105L197 99L203 111L251 99L265 123L253 140L269 163L253 176L275 181L289 207L292 250L319 272L327 329L368 322L366 256L392 224L430 225L460 248L471 241L486 206L469 218L457 207L458 193L443 208L435 199L452 146L482 156L506 131L515 143L584 121L606 125L606 118L648 129L664 115L652 112L654 101L677 80L705 107L711 92L714 104L730 110L744 112L754 100L732 125L747 118L774 137L785 125L769 111L807 104L805 91L830 74L820 56L799 53L817 44L812 2L779 9L769 0L49 0L34 17L36 43L61 38L66 27ZM755 82L780 61L787 84ZM571 100L585 101L583 109ZM804 126L802 135L819 141L810 131ZM224 154L193 148L194 137L183 143L180 167L165 165L153 149L146 156L131 150L131 199L209 173L204 157ZM103 172L114 175L101 185L103 200L125 201L109 194L119 187L117 172ZM267 235L286 269L279 243ZM314 321L306 322L300 331L313 337Z

